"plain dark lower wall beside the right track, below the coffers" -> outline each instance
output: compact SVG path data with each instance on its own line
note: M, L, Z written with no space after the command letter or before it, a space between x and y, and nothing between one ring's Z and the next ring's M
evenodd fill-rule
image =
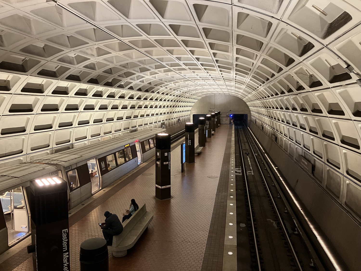
M329 238L349 270L360 270L361 227L339 203L332 199L316 179L308 175L254 122L251 122L250 129Z

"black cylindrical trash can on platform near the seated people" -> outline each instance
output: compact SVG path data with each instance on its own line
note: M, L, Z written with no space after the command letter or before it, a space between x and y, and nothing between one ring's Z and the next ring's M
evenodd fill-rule
M103 238L91 238L80 245L81 271L109 271L108 246Z

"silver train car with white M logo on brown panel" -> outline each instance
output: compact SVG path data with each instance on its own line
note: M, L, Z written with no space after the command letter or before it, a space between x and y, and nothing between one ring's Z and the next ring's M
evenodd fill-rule
M54 165L58 169L58 175L69 184L71 209L154 156L154 137L164 131L142 130L48 155L31 163ZM153 144L151 148L142 151L140 144L144 141Z

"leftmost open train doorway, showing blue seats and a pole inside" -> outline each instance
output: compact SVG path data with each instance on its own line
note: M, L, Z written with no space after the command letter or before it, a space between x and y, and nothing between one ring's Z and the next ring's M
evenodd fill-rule
M29 233L29 213L23 188L20 186L1 194L0 201L11 246Z

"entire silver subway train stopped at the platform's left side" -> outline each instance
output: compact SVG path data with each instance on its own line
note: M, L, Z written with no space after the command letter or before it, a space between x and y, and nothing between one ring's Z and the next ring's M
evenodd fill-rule
M155 136L165 131L145 129L0 168L0 254L30 234L30 181L65 180L70 210L155 156Z

